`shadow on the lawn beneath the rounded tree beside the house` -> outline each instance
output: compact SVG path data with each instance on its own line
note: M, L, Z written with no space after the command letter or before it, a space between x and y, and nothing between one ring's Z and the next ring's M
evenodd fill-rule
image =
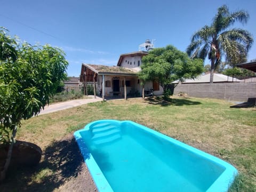
M164 98L163 96L148 97L145 102L161 106L182 106L182 105L200 105L201 102L190 101L186 98Z

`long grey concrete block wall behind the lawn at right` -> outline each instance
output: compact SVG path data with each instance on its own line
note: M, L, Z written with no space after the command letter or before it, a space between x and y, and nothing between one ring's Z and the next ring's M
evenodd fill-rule
M218 83L218 84L179 84L174 95L180 92L190 97L219 98L230 101L247 101L256 97L256 82Z

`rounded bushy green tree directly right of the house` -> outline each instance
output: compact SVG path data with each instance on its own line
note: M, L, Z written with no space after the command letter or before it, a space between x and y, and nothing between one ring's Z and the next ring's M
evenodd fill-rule
M175 80L195 78L203 72L203 60L190 59L187 53L174 46L155 48L143 56L139 78L142 84L148 80L156 80L168 93L168 85Z

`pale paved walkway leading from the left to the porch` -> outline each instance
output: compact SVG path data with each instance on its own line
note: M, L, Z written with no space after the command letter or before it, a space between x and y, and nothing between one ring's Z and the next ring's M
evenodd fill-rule
M55 103L55 104L51 104L51 105L46 105L44 107L44 110L42 110L38 115L52 113L55 111L66 110L67 108L76 107L76 106L84 105L87 103L94 103L94 102L102 101L101 97L94 98L93 95L89 95L89 97L91 97L91 98L75 99L75 100L71 100L71 101L67 101L67 102L60 102L60 103Z

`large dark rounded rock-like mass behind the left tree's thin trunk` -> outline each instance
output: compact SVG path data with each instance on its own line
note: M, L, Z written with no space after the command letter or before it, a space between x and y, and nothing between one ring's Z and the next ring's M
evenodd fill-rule
M3 169L9 145L0 146L0 170ZM33 143L16 140L13 150L9 168L16 168L17 166L34 166L39 163L42 156L40 147Z

